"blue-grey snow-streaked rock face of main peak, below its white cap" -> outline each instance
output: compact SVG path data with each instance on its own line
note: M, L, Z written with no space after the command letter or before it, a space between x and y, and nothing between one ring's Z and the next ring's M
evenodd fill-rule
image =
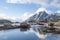
M29 20L44 20L48 17L48 14L45 11L39 12L39 14L35 14L29 18Z

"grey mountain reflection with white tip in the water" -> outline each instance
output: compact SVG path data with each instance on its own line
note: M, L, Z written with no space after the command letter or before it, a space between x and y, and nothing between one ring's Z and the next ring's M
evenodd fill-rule
M47 34L43 32L44 25L33 25L32 29L35 31L35 34L38 36L38 38L45 40Z

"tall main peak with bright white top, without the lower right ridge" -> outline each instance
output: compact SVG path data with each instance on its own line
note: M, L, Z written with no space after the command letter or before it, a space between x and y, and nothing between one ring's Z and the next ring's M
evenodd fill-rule
M29 21L45 20L50 14L48 13L48 11L46 9L40 8L28 20Z

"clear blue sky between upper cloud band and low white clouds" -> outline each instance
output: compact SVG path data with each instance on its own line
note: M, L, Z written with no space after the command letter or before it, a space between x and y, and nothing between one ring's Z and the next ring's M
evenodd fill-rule
M6 3L4 0L0 0L0 13L5 13L10 16L21 16L25 12L34 13L40 5L35 4L14 4Z

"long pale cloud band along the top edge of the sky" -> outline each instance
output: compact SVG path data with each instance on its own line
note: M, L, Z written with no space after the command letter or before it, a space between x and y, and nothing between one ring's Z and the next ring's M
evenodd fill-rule
M7 3L20 3L20 4L38 4L42 7L56 7L60 8L60 0L7 0Z

